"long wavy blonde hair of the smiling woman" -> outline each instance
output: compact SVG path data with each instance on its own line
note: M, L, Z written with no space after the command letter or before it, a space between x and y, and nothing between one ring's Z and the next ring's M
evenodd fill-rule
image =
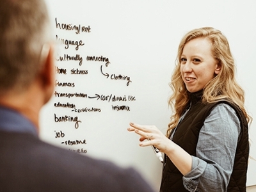
M186 90L180 74L180 59L184 45L195 38L207 38L211 42L212 55L220 62L219 65L221 66L219 74L205 85L202 102L211 103L221 99L231 100L243 111L247 122L249 123L251 120L251 117L244 109L244 90L239 86L235 78L236 66L227 38L221 31L211 27L193 29L184 35L180 42L175 61L176 67L173 71L172 81L169 84L173 94L168 99L168 104L173 109L174 115L171 116L166 136L169 136L172 129L177 126L182 112L189 103L189 92Z

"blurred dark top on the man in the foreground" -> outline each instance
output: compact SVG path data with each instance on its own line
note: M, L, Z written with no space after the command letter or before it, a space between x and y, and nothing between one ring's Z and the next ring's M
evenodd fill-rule
M32 125L20 117L18 113L12 116L14 122L22 119L20 127ZM152 191L132 168L54 147L41 141L32 129L15 131L11 126L12 131L7 131L12 122L3 122L0 117L0 130L4 126L0 131L0 191Z

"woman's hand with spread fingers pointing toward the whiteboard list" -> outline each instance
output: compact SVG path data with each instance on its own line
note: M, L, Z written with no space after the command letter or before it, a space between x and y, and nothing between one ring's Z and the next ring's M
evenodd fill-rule
M145 147L149 145L154 145L161 152L166 152L172 147L172 141L170 141L166 136L157 129L154 125L139 125L130 123L130 126L127 130L134 131L136 134L140 135L140 146ZM147 140L147 141L144 141Z

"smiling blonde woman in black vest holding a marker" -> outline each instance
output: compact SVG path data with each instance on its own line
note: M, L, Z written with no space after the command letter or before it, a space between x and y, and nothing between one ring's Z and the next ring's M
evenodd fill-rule
M250 116L227 38L214 28L187 33L170 86L167 137L155 126L128 128L164 153L160 191L246 191Z

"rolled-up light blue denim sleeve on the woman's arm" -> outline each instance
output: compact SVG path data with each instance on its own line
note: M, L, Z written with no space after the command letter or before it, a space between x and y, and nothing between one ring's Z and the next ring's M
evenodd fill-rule
M240 129L236 111L228 104L212 109L200 131L191 172L183 177L188 191L227 191Z

